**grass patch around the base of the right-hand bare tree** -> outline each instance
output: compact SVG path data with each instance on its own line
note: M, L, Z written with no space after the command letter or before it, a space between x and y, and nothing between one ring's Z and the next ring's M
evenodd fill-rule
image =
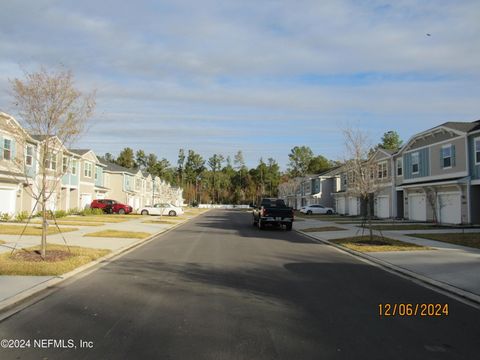
M353 236L329 241L361 252L430 250L430 248L426 246L411 244L378 235L374 235L372 239L370 239L370 236Z

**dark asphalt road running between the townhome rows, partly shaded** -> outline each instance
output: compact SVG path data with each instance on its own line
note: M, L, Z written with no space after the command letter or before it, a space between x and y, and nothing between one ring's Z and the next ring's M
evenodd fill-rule
M0 339L31 341L0 359L479 358L479 310L250 217L210 211L60 286L0 323Z

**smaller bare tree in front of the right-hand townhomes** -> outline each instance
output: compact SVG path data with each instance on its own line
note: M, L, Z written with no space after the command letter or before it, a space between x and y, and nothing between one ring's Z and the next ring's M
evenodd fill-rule
M344 168L348 179L348 192L359 197L367 207L367 221L370 240L373 240L371 194L377 191L376 169L368 161L371 148L367 133L360 129L346 128L343 130L345 141Z

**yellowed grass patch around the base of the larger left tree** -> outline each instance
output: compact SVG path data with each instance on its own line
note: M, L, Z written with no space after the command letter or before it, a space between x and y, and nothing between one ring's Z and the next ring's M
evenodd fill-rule
M39 247L16 251L13 255L0 254L0 275L61 275L79 266L107 255L110 250L91 249L70 246L70 252L64 245L47 245L47 260L42 260L39 254L33 253ZM54 259L48 260L49 253L55 253ZM59 254L62 254L59 256ZM28 255L28 256L25 256Z

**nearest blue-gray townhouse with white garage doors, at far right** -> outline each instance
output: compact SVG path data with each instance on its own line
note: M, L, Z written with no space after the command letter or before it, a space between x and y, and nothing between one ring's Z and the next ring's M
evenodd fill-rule
M480 121L446 122L412 136L394 154L396 215L446 224L479 223L477 153Z

